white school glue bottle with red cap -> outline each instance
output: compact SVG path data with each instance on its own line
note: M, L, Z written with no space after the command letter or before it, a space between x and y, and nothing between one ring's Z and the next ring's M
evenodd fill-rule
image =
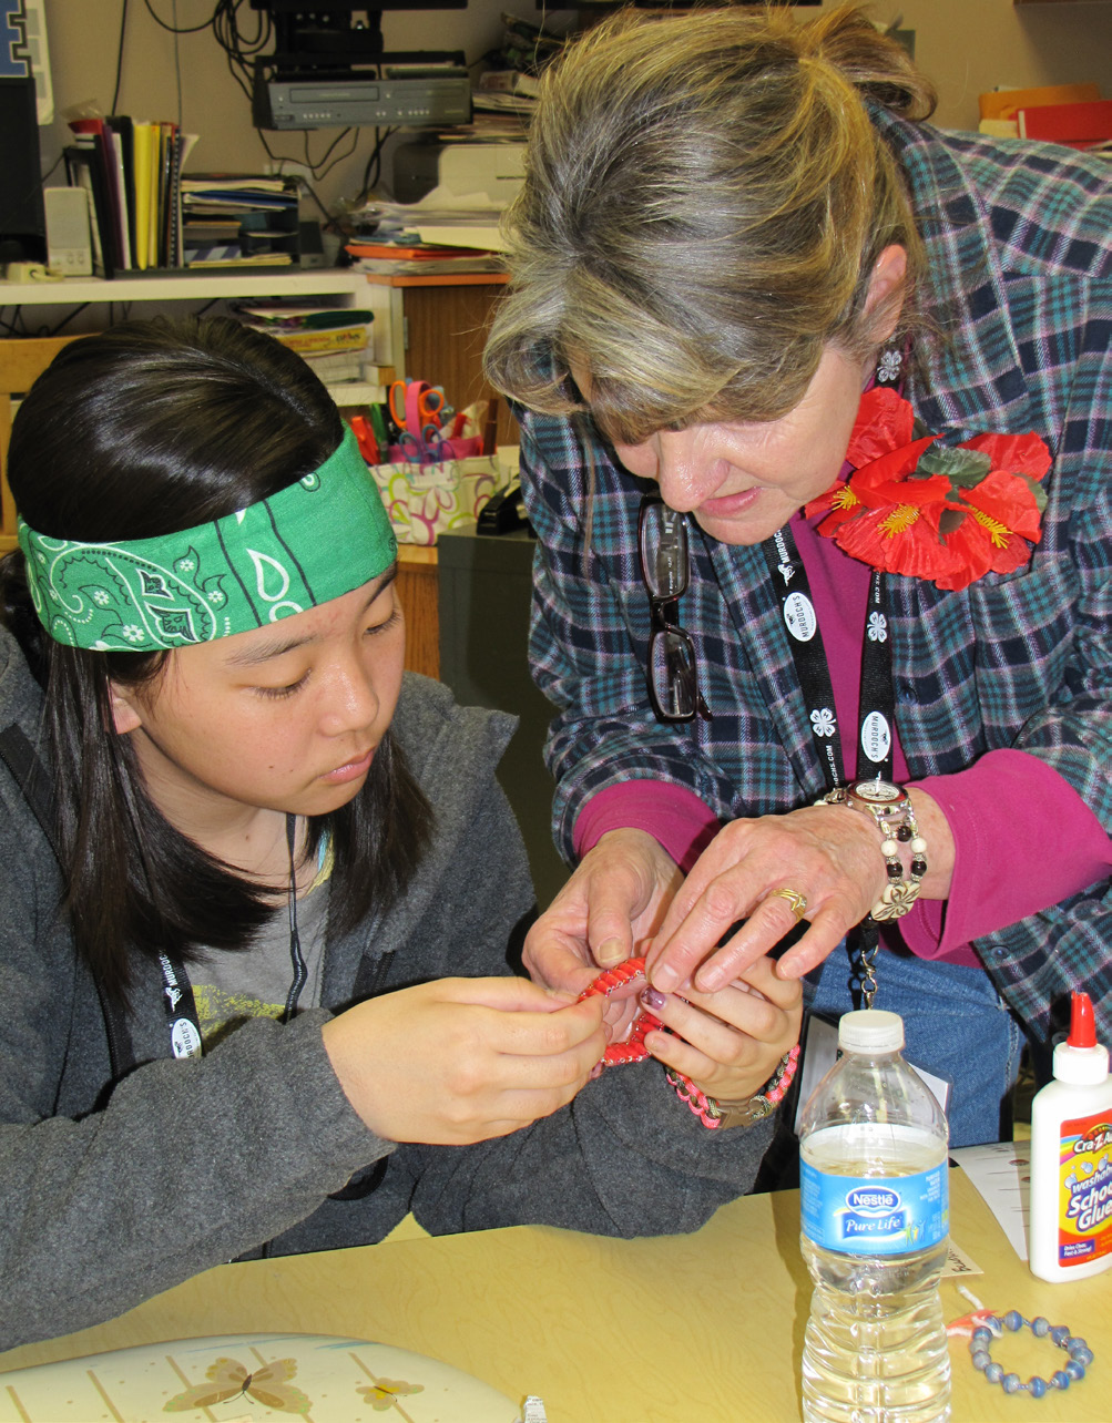
M1074 993L1054 1077L1031 1103L1028 1255L1039 1279L1082 1279L1112 1265L1112 1079L1088 993Z

